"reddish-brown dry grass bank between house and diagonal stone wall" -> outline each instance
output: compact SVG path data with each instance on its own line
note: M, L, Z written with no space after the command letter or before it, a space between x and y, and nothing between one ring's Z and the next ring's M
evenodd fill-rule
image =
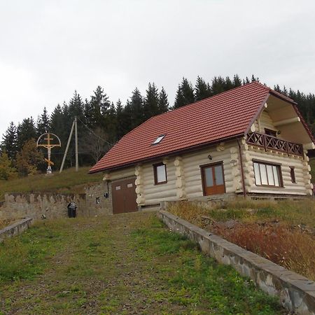
M234 228L209 225L211 232L258 255L315 280L315 202L247 200L205 207L190 202L169 205L170 212L204 228L203 217L215 222L237 220Z

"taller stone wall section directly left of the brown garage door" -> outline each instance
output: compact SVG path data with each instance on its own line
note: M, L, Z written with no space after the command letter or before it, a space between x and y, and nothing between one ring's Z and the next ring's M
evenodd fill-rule
M113 214L111 183L103 181L85 188L86 207L90 216Z

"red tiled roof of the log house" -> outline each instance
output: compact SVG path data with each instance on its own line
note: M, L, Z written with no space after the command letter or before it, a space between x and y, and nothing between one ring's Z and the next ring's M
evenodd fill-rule
M132 165L163 155L241 136L255 119L267 97L277 97L294 103L292 99L257 82L237 87L154 116L126 134L90 173ZM153 141L165 134L160 144Z

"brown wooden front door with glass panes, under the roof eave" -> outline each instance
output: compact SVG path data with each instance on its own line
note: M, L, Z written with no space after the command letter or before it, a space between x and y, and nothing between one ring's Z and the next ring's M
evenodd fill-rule
M202 187L204 196L225 193L223 163L202 167Z

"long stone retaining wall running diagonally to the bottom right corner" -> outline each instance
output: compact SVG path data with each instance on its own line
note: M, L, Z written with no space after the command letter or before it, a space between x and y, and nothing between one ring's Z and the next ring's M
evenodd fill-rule
M218 262L231 265L269 295L277 295L288 311L296 314L315 314L315 283L276 265L250 251L213 235L167 211L158 211L160 219L174 232L197 242L204 253Z

